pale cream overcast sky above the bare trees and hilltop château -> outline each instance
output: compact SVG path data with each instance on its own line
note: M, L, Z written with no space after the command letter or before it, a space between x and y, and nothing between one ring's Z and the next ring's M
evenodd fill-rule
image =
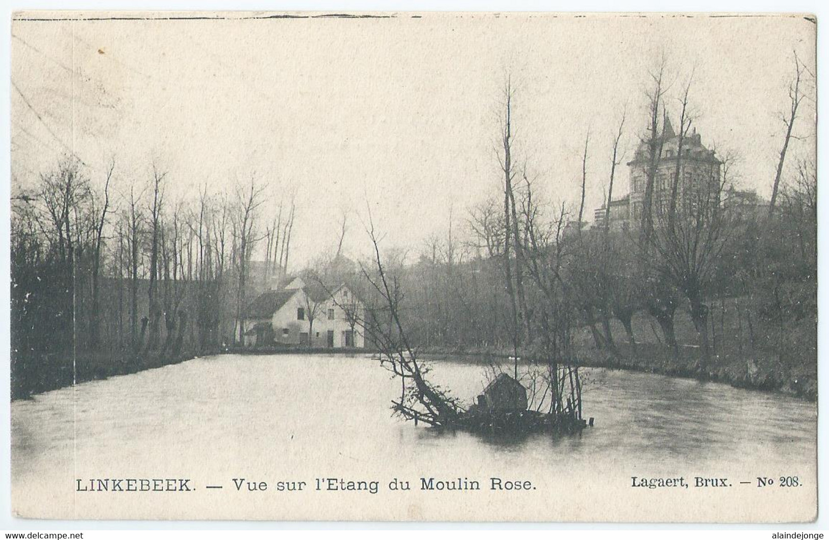
M63 15L65 16L65 14ZM240 17L241 14L231 15ZM19 16L22 17L22 16ZM366 202L387 245L419 251L496 193L497 105L517 81L518 162L553 201L579 195L589 129L587 215L608 182L623 109L628 157L644 126L648 69L667 57L669 105L691 70L706 146L739 155L743 187L768 196L793 51L814 64L802 17L400 14L376 19L16 21L12 175L19 185L75 153L119 189L168 171L169 197L255 175L268 213L296 187L296 265L336 244L365 252ZM801 136L814 132L807 104ZM791 159L813 156L814 139ZM622 195L628 169L620 173Z

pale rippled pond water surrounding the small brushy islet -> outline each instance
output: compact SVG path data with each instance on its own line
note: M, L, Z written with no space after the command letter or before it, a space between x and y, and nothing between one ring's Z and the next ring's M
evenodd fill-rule
M481 518L484 505L487 519L710 521L707 504L729 505L714 521L774 521L782 518L775 504L813 515L814 403L646 373L584 374L584 417L595 426L519 441L391 416L400 383L363 355L220 355L87 382L12 403L13 506L24 516L85 518ZM435 362L431 376L471 402L487 369ZM631 485L633 476L659 475L727 476L734 485L702 499L697 489L671 494L670 503L656 499L659 489ZM499 499L487 491L493 476L529 479L541 491ZM760 489L758 476L797 476L801 485ZM421 477L476 479L485 489L424 498L414 491ZM75 490L75 479L98 478L190 478L197 490ZM316 479L376 479L381 490L396 478L413 491L250 494L235 489L240 478L312 488ZM667 511L647 513L648 504Z

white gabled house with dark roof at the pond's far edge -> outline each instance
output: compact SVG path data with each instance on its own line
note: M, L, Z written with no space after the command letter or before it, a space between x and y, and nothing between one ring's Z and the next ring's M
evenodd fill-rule
M294 278L259 294L245 309L244 345L363 348L362 317L363 304L347 285L308 285Z

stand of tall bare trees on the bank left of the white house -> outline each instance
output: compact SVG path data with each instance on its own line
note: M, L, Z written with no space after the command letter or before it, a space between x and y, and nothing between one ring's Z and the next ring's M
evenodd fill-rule
M13 396L240 340L235 322L251 291L288 264L293 194L266 223L256 178L189 199L173 198L169 182L155 166L147 178L123 178L114 161L94 174L67 156L15 185ZM259 246L264 264L251 262Z

